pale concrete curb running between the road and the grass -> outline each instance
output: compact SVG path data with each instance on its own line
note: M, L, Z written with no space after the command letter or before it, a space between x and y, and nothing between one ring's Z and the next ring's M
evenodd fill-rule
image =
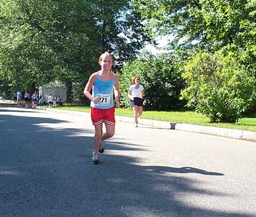
M36 109L40 110L51 110L54 112L62 112L67 114L77 114L77 115L84 115L90 116L88 112L76 112L71 110L59 110L59 109L52 109L52 108L44 108L44 107L36 107ZM121 122L129 122L133 123L133 118L126 117L126 116L115 116L115 120ZM256 132L251 132L247 130L233 130L227 128L218 128L213 126L201 126L201 125L194 125L194 124L182 124L182 123L170 123L164 122L159 120L149 120L149 119L139 119L139 124L147 125L147 126L155 126L164 129L170 130L183 130L188 132L198 132L202 134L211 134L215 136L224 136L228 138L234 138L239 140L249 140L256 142Z

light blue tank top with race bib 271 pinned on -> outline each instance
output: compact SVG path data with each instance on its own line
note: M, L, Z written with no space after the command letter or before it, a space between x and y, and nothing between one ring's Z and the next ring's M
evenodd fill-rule
M96 75L96 80L92 86L92 97L99 99L95 104L91 101L91 107L107 109L113 107L113 86L115 85L115 75L109 81L101 81Z

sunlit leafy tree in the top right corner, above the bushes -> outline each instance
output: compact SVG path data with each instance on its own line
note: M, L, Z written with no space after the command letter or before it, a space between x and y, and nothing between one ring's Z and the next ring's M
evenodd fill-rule
M138 0L134 7L152 32L174 36L169 49L187 51L186 61L200 52L221 51L224 56L232 52L256 78L256 1ZM255 105L251 107L256 110Z

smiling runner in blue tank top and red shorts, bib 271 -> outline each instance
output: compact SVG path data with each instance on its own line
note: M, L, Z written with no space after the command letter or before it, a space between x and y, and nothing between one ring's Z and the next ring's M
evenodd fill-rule
M92 163L99 163L99 152L104 152L103 141L111 138L115 134L115 108L113 103L113 90L115 93L115 105L120 107L119 103L119 78L113 73L114 57L105 52L99 57L101 69L90 76L84 95L91 101L91 118L95 128L94 152L92 153ZM92 90L92 94L90 91ZM103 133L103 123L106 132Z

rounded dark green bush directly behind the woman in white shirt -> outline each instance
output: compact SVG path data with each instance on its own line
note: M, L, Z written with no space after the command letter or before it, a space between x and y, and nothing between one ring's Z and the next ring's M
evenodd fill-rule
M170 56L144 53L138 60L124 65L119 75L123 107L129 107L127 93L135 75L141 77L141 84L145 87L147 110L166 110L183 106L179 100L180 89L184 87L182 78L180 72L175 70L174 61Z

